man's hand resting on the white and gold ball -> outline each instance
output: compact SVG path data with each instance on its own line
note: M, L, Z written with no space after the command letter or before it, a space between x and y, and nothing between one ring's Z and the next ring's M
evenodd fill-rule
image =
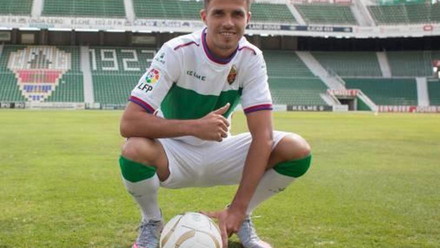
M201 212L211 218L218 219L223 248L227 248L227 238L236 233L244 220L244 212L233 211L230 208L217 212Z

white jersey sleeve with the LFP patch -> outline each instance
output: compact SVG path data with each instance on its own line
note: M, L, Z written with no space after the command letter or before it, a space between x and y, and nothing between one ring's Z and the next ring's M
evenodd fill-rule
M176 51L165 43L131 91L128 100L148 113L153 113L160 107L173 82L177 81L180 75L180 65Z

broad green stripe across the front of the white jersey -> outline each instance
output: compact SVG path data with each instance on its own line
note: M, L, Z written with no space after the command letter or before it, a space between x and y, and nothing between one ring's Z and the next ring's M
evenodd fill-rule
M237 106L240 96L241 88L222 91L219 96L214 96L201 95L173 84L163 99L160 109L166 119L189 120L201 118L229 103L229 109L223 114L227 117Z

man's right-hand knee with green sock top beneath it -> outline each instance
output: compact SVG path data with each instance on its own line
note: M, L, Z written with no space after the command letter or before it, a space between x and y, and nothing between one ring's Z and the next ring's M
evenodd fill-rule
M279 145L282 162L276 164L273 169L279 174L295 178L304 175L311 163L310 145L307 141L299 135L290 134L285 136Z

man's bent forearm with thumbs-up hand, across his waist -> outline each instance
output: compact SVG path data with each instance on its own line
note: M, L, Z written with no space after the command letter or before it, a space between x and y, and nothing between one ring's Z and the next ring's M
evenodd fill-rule
M191 135L203 140L221 141L227 136L229 123L222 116L229 104L196 120L167 120L145 112L128 102L120 120L123 137L170 138Z

